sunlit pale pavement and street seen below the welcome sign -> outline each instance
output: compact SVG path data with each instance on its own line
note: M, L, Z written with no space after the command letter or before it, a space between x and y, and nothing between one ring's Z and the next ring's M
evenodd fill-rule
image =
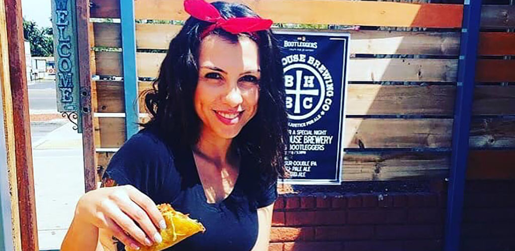
M82 136L57 112L54 81L28 86L40 250L58 250L84 193Z

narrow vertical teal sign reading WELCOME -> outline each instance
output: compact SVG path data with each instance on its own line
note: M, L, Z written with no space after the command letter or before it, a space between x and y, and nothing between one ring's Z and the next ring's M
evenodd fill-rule
M57 69L57 111L78 112L80 103L75 0L52 0L52 23Z

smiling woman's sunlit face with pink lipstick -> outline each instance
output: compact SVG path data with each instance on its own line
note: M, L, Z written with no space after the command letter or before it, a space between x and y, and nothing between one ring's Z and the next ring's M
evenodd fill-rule
M200 44L195 112L201 135L232 139L256 114L259 99L258 45L242 36L231 43L218 35Z

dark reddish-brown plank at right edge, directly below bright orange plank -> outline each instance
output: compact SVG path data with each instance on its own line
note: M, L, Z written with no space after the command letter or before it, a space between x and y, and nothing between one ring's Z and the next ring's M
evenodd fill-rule
M515 82L515 60L478 59L477 82Z

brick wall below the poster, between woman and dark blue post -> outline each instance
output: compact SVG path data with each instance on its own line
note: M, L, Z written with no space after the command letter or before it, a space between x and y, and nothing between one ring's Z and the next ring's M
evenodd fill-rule
M441 250L441 192L284 195L276 203L271 251Z

